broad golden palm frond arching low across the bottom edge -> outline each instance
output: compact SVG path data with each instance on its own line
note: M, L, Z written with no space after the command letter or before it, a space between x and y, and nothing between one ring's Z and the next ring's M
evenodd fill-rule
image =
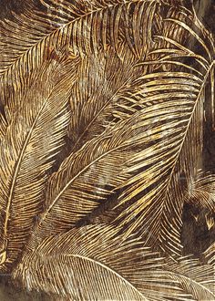
M49 236L26 253L13 277L29 290L69 300L194 300L159 254L136 239L122 242L116 234L99 225Z

